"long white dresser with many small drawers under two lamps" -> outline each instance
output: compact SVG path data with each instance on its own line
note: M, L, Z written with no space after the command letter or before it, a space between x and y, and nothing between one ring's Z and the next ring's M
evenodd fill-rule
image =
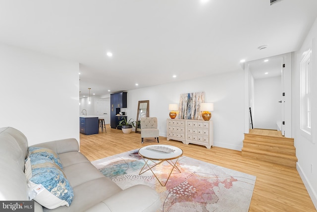
M170 139L211 148L213 145L213 123L204 120L167 119L167 141Z

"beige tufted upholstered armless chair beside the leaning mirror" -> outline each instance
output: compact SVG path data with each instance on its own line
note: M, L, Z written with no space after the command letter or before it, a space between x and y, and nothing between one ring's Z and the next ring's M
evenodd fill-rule
M156 117L141 118L141 143L144 138L155 138L159 142L158 119Z

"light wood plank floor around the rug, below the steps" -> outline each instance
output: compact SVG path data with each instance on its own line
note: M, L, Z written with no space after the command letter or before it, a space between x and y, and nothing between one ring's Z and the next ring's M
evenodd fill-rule
M106 132L90 136L80 134L80 151L89 160L157 144L155 139L145 139L141 144L140 134L123 134L108 125ZM178 146L186 156L257 176L249 212L316 212L295 168L243 158L241 151L231 149L208 149L180 141L167 141L164 137L159 137L159 143Z

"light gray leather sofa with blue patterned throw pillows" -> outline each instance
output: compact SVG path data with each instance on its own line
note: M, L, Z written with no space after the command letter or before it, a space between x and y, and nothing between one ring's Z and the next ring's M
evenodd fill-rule
M145 185L120 189L79 152L75 139L31 147L34 148L29 148L27 138L20 131L0 128L1 201L29 201L31 197L36 200L35 212L155 212L159 208L155 190ZM33 150L29 152L29 149ZM39 183L34 179L41 176L42 168L50 171L42 173L44 177L39 179L46 182ZM53 184L45 187L55 180L55 187ZM61 191L53 191L59 187Z

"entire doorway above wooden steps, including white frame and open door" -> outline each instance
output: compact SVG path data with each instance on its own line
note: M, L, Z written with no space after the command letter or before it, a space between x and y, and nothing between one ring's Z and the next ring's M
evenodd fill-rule
M291 138L291 53L246 62L244 69L245 133L253 124Z

